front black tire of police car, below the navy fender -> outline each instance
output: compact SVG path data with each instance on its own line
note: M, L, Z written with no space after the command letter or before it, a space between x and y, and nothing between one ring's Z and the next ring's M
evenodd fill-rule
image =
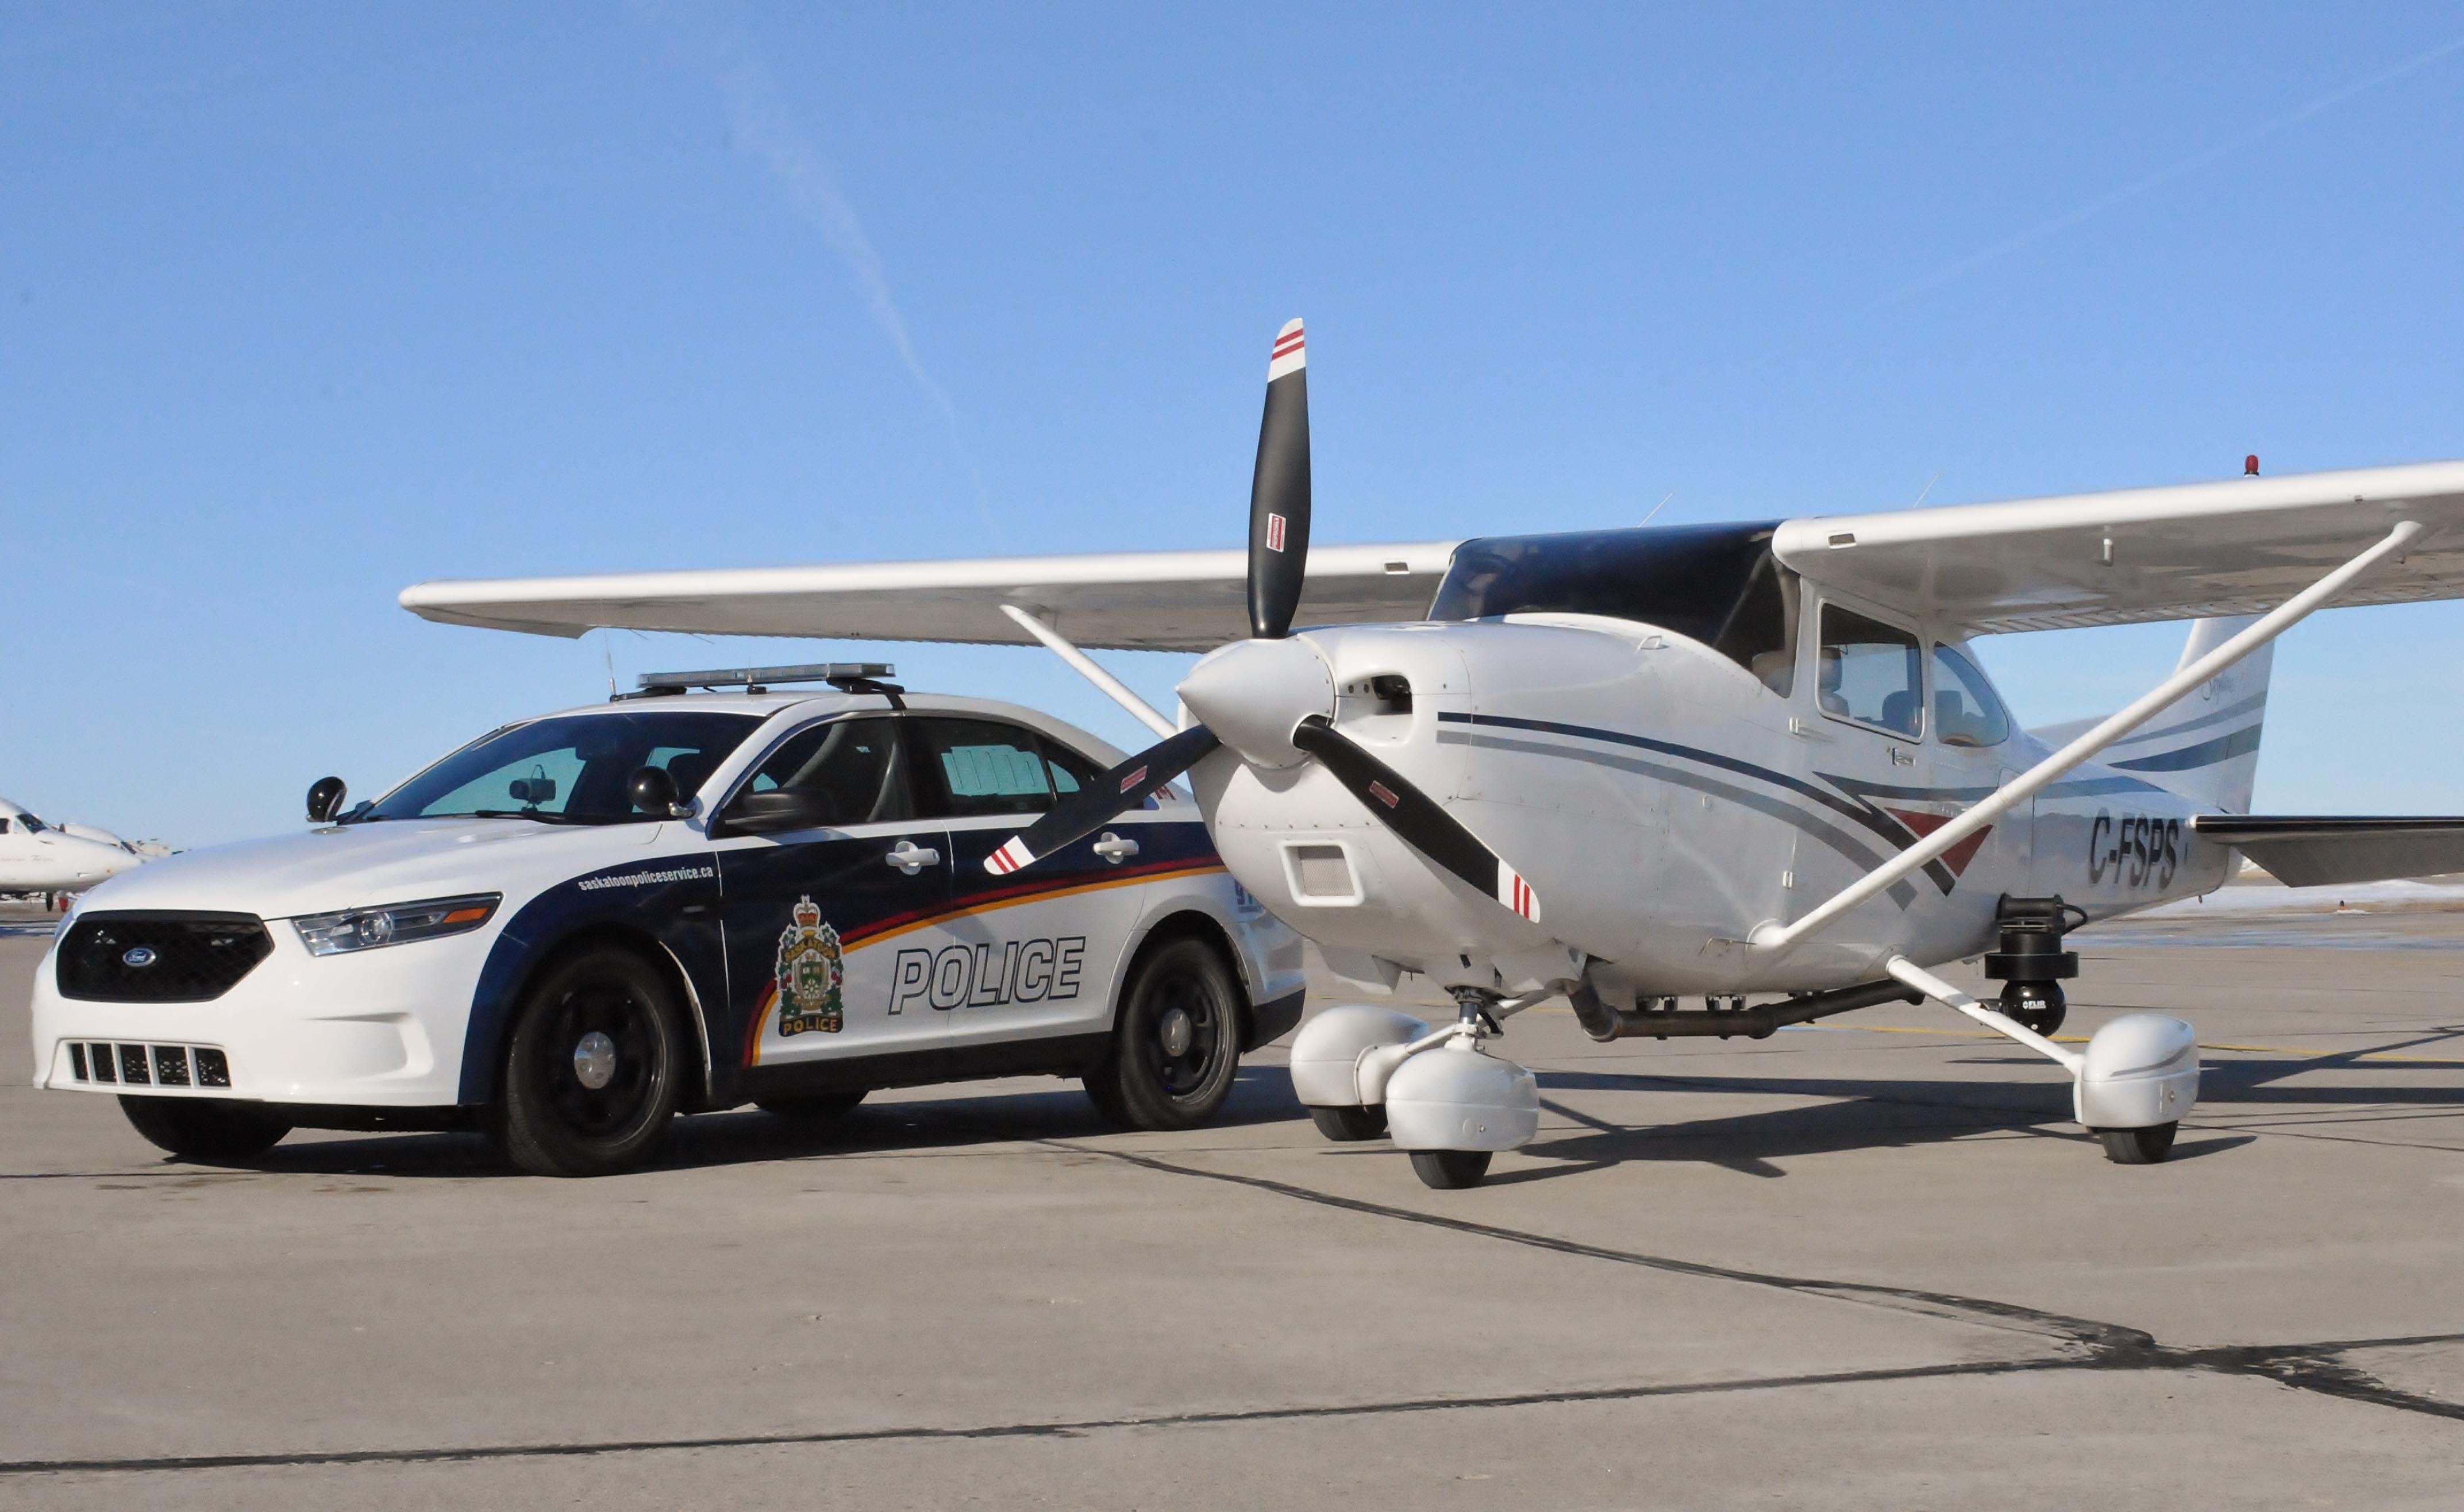
M495 1123L540 1177L641 1165L683 1096L685 1029L668 975L621 948L572 955L522 997Z

